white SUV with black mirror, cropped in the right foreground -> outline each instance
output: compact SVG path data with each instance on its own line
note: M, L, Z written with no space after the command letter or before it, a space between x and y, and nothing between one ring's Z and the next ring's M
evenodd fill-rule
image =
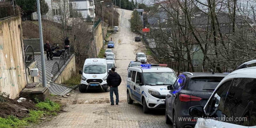
M250 67L252 63L256 60L228 74L205 106L189 108L189 115L200 117L196 118L195 128L256 127L256 67Z

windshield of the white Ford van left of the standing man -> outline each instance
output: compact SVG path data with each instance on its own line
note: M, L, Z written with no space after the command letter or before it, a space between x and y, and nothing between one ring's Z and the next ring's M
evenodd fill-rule
M83 72L85 74L103 74L106 73L106 65L85 65Z

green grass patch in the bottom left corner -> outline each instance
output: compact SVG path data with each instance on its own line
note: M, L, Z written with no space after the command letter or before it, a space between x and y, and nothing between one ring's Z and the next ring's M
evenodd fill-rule
M18 128L26 125L28 125L28 123L25 120L19 120L15 116L8 116L7 118L0 117L1 128Z

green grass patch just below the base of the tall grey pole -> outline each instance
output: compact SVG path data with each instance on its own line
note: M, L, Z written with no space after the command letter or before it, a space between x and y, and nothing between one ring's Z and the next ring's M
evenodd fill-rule
M46 99L45 102L40 102L38 104L35 105L35 107L37 107L39 110L47 110L47 111L60 111L61 109L61 104L58 104L56 102L53 102L49 99Z

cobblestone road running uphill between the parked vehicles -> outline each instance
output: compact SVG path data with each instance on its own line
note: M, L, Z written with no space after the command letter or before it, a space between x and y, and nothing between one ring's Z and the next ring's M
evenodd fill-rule
M110 105L109 93L102 90L88 90L80 93L78 89L72 92L72 96L62 98L67 106L67 112L62 112L50 121L44 121L40 125L30 127L38 128L167 128L164 111L152 111L143 113L142 105L138 103L127 104L126 76L127 66L135 59L138 42L133 38L136 34L130 30L132 11L120 10L119 31L111 35L115 42L113 49L116 54L117 71L122 77L119 89L119 105ZM115 100L115 96L114 96Z

